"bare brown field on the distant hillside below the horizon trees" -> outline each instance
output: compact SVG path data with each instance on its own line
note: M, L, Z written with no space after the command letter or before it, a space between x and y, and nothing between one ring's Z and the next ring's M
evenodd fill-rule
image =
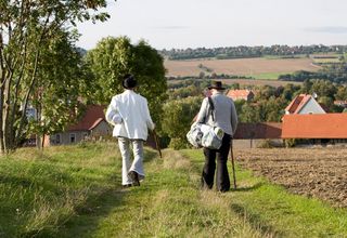
M216 74L254 76L259 74L288 74L297 70L317 71L320 67L312 65L311 58L236 58L236 60L192 60L165 61L167 76L197 76L204 71L198 65ZM206 72L206 71L205 71ZM206 72L207 74L207 72Z

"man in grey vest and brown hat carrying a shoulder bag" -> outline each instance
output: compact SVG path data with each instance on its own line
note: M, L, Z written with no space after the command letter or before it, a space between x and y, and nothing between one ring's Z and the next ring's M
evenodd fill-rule
M208 89L211 92L210 100L207 97L204 98L196 122L218 127L224 132L224 135L219 149L204 148L205 164L202 174L202 186L207 189L213 188L217 158L217 190L224 193L230 189L227 161L229 150L231 149L232 136L237 127L237 114L232 98L222 93L224 88L221 81L213 82ZM214 110L210 108L210 101ZM213 111L213 114L210 114L210 111Z

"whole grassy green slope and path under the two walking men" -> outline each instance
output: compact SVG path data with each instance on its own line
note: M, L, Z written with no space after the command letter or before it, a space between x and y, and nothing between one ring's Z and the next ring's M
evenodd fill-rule
M201 150L163 154L146 148L146 178L126 189L115 143L1 158L0 237L347 236L346 210L240 168L236 190L201 190Z

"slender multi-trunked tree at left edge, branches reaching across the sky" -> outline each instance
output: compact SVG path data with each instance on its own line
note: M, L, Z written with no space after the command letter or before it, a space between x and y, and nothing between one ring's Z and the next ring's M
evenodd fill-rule
M106 0L0 2L0 151L15 149L40 71L42 45L76 21L105 21Z

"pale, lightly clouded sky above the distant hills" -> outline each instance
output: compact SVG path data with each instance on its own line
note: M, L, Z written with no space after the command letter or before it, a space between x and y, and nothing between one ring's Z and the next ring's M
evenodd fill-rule
M103 10L106 23L78 25L78 47L107 36L157 50L347 44L347 0L118 0Z

